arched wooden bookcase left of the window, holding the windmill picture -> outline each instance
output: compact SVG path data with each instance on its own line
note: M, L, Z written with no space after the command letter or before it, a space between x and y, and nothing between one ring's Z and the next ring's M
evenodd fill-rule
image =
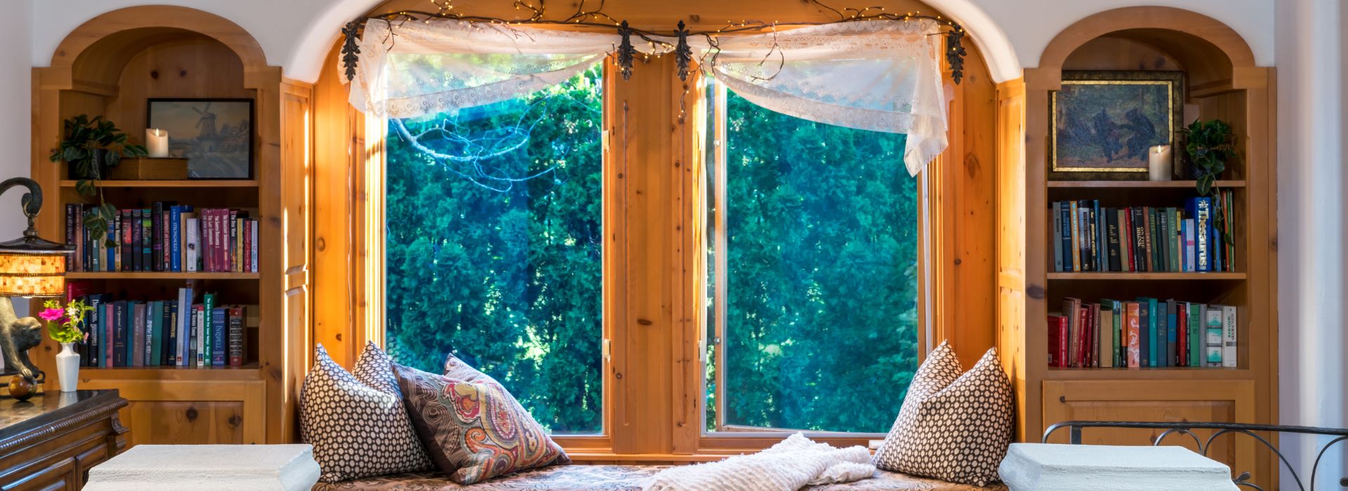
M307 332L307 243L286 235L307 219L286 194L307 196L305 132L309 87L282 78L262 47L237 24L202 11L150 5L100 15L70 32L49 67L34 69L32 176L47 202L38 229L65 239L66 203L92 203L74 188L65 164L47 160L62 121L104 116L132 143L143 143L147 98L253 101L253 179L105 182L108 202L148 207L155 200L249 210L259 218L257 273L73 272L67 281L133 300L171 299L179 287L217 292L222 303L256 305L243 367L82 367L81 389L119 389L131 405L121 421L135 444L280 443L293 440L294 374L302 377ZM299 174L286 172L297 168ZM298 186L298 188L297 188ZM298 194L291 194L298 191ZM297 200L299 202L299 200ZM284 230L290 226L293 230ZM36 307L36 304L34 304ZM295 331L295 332L288 332ZM46 390L59 390L50 339L32 358L46 369Z

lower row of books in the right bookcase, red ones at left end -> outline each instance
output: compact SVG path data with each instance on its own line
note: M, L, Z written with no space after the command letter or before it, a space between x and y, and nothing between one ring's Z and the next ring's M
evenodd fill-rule
M1231 305L1068 297L1049 315L1049 366L1236 367L1237 326Z

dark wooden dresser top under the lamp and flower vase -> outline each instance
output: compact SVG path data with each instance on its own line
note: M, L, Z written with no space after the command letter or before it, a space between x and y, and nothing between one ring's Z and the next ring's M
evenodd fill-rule
M27 401L0 397L0 441L102 408L116 410L123 405L119 401L121 397L115 389L73 393L53 390L34 395Z

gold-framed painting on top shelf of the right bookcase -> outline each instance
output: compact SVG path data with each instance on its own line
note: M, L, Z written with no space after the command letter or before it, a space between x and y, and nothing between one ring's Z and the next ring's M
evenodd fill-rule
M1064 71L1049 114L1050 180L1147 180L1147 151L1184 118L1184 71Z

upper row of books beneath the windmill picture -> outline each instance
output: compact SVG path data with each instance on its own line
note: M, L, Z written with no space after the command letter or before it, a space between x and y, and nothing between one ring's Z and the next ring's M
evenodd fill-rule
M108 238L94 241L84 226L93 204L66 204L66 261L73 272L257 272L257 221L237 209L193 209L155 202L117 210Z

